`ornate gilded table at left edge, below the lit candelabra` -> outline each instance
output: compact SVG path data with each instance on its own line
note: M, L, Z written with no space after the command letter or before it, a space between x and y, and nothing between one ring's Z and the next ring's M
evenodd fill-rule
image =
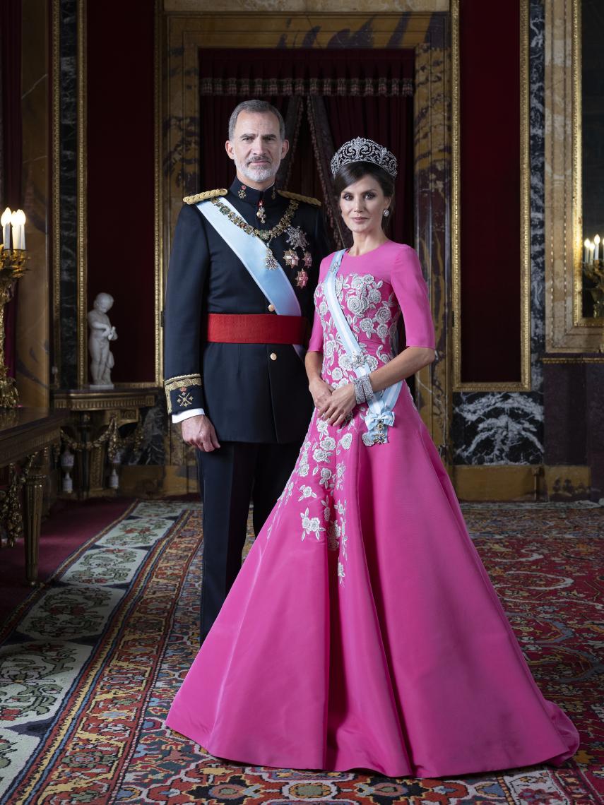
M9 544L23 531L25 575L29 584L38 578L39 531L44 487L48 478L48 448L60 442L65 411L14 408L0 411L0 467L10 466L8 489L0 499L0 514ZM17 473L14 465L21 464ZM21 487L23 486L23 510Z

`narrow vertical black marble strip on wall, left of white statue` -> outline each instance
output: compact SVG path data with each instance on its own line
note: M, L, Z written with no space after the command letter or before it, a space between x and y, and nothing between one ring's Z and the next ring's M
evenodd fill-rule
M77 386L77 0L60 0L60 344L62 388Z

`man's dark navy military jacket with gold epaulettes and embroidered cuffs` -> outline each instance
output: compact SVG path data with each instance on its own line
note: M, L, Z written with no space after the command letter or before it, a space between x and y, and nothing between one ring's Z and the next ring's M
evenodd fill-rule
M290 204L288 197L273 188L259 192L246 187L244 191L239 180L231 185L225 199L257 229L277 225ZM264 224L257 216L259 200L265 208ZM286 250L292 250L291 233L275 237L270 249L296 291L302 316L312 325L312 295L319 264L330 250L321 209L300 200L291 226L308 239L305 249L294 250L298 265L288 265L283 258ZM312 257L311 266L304 266L304 251ZM296 276L303 268L308 284L300 288ZM304 363L292 345L205 341L208 313L276 316L269 304L246 267L197 206L184 204L172 244L164 315L168 411L179 414L203 408L219 440L287 444L304 438L312 398Z

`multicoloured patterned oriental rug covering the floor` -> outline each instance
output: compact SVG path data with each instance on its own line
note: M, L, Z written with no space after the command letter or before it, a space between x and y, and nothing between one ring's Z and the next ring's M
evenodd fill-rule
M0 802L604 802L602 508L472 504L478 551L581 748L561 769L391 779L234 766L163 729L198 645L201 511L135 503L23 601L0 637Z

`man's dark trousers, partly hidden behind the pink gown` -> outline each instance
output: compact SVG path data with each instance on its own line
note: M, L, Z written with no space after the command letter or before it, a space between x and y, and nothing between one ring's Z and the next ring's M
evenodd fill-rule
M250 499L254 501L254 534L258 535L294 469L300 444L223 441L213 452L197 450L204 501L202 641L241 568Z

